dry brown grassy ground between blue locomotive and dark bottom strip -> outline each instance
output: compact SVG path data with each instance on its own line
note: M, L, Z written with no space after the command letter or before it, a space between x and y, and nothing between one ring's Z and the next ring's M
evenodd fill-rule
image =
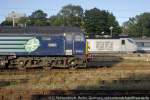
M149 76L149 62L122 62L111 67L78 70L53 69L26 74L0 72L0 91L150 90Z

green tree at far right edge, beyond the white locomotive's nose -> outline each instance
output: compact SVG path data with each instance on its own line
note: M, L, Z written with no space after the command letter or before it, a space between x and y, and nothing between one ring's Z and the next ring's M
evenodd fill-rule
M150 13L143 13L130 18L123 24L123 31L130 36L142 37L150 36Z

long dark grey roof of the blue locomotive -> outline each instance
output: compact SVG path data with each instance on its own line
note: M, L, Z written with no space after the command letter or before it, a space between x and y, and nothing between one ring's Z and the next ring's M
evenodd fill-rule
M83 33L83 31L79 27L65 27L65 26L27 26L27 27L0 26L0 34L3 33L61 34L61 33Z

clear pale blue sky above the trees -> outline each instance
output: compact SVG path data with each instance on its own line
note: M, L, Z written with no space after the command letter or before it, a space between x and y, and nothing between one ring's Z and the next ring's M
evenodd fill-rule
M11 11L18 13L31 13L37 9L43 10L49 16L56 15L60 9L68 4L80 5L89 10L94 7L108 10L116 17L120 25L144 12L150 12L149 0L2 0L0 2L0 22Z

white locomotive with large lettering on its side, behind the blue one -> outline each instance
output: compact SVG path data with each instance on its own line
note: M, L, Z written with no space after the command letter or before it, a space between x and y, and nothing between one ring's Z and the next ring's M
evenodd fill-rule
M136 42L131 38L87 39L88 53L135 52Z

